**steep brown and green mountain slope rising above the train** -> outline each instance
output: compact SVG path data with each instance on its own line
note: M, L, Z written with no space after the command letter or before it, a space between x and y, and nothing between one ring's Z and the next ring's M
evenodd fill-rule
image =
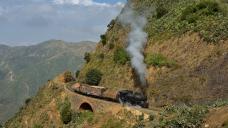
M143 54L151 107L228 98L226 1L131 0L127 6L148 19ZM106 44L100 42L91 61L83 66L81 82L95 68L103 73L100 86L136 90L131 64L114 61L115 51L127 47L129 32L118 19L112 22L105 34ZM101 54L104 59L97 59Z

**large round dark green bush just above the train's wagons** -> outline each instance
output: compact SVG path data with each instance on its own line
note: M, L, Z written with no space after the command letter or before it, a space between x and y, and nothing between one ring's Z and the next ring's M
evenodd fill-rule
M102 73L97 69L91 69L86 73L86 83L89 85L98 85L101 81Z

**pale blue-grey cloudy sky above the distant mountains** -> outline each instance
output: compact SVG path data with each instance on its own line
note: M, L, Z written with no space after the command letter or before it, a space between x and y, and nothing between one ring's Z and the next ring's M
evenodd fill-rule
M0 44L99 41L126 0L0 0Z

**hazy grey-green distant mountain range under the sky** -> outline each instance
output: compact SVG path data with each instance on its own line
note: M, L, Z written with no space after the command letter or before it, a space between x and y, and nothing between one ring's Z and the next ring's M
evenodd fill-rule
M33 46L0 45L0 122L36 94L40 85L65 70L76 71L94 42L50 40Z

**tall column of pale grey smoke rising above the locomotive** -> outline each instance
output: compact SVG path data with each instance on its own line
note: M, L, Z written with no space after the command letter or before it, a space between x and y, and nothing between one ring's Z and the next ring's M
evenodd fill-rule
M146 65L142 51L147 42L147 33L143 31L147 20L144 16L136 14L129 5L123 9L118 20L123 26L130 26L131 28L126 50L131 55L131 65L135 69L141 84L146 86Z

